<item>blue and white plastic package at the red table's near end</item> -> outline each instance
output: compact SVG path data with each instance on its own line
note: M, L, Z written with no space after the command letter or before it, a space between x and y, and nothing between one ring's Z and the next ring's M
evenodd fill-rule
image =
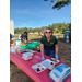
M61 63L60 66L51 70L49 77L55 82L63 82L69 74L70 74L70 68Z

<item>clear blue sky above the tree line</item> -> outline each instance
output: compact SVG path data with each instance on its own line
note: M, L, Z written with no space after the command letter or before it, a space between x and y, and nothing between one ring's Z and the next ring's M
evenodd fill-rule
M44 0L10 0L10 20L14 21L14 28L71 22L71 4L60 10L52 9L50 1Z

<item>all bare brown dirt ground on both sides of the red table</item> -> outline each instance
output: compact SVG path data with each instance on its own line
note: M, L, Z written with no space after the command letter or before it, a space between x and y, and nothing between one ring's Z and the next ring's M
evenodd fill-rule
M59 60L71 66L71 43L58 42ZM10 82L34 82L14 63L10 63Z

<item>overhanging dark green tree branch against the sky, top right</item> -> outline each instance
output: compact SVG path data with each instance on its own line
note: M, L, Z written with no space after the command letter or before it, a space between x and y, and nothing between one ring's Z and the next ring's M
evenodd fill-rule
M51 3L55 3L51 8L57 10L71 3L71 0L44 0L44 1L50 1Z

